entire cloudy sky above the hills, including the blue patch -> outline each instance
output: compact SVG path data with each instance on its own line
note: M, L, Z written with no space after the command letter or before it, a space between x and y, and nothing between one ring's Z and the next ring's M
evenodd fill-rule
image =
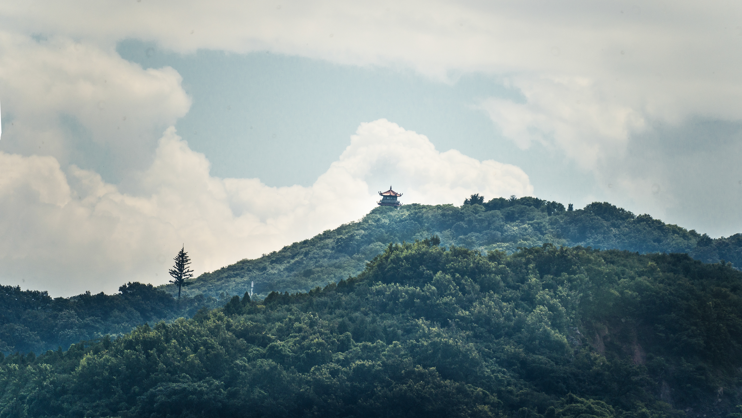
M742 4L0 3L0 284L165 283L404 203L742 232Z

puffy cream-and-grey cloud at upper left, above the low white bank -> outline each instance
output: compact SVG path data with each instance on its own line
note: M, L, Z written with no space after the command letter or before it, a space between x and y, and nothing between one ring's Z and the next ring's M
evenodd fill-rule
M145 70L66 36L0 32L0 68L4 151L105 164L114 177L148 166L162 130L191 105L172 68Z

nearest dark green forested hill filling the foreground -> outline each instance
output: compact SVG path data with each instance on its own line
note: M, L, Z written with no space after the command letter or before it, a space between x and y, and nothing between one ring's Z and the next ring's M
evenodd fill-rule
M742 417L728 263L438 244L388 245L309 293L8 356L0 417Z

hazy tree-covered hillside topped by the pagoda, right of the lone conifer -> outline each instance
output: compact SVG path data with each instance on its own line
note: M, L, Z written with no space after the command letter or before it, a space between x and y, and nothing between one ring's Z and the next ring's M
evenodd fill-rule
M444 246L464 246L508 254L518 247L552 243L626 249L632 252L687 252L706 263L720 260L742 267L742 234L712 239L649 215L634 215L610 203L567 210L562 203L535 197L484 202L473 196L461 207L410 204L377 207L361 221L327 230L255 260L242 260L204 273L188 295L241 295L255 281L255 293L298 292L360 273L390 242L439 235ZM162 287L177 293L172 285Z

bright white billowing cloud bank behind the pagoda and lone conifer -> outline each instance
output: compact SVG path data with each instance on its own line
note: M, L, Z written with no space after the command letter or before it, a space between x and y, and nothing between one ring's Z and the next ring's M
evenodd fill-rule
M154 161L124 193L99 174L54 157L0 153L4 284L72 295L113 292L125 281L165 283L181 244L197 272L279 249L375 207L395 183L406 203L456 203L475 192L530 195L521 169L459 151L440 152L387 120L363 123L312 186L269 187L221 179L209 160L168 128Z

